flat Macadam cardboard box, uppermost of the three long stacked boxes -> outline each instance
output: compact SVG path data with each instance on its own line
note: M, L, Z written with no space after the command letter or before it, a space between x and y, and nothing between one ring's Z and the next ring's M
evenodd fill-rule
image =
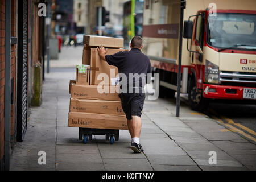
M98 92L97 85L71 85L71 97L92 100L121 101L119 98L119 88L117 86L105 86L104 93Z

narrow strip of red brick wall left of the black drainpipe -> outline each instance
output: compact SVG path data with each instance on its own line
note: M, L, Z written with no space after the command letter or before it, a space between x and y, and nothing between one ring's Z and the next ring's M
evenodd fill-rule
M0 168L4 154L4 95L5 93L5 0L0 0Z

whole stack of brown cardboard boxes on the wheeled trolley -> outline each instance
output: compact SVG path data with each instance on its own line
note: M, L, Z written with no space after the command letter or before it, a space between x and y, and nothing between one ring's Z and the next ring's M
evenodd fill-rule
M108 48L110 55L123 51L120 49L123 39L84 36L82 64L77 65L76 80L69 85L68 127L127 130L125 113L117 92L118 68L100 59L97 47L101 45ZM108 75L102 78L107 78L104 86L98 86L102 82L98 80L100 73Z

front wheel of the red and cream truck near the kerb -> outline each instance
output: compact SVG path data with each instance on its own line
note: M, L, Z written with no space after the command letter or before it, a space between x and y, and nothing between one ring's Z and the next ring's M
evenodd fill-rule
M189 79L188 102L193 110L204 111L209 105L209 100L203 97L201 90L197 89L195 78Z

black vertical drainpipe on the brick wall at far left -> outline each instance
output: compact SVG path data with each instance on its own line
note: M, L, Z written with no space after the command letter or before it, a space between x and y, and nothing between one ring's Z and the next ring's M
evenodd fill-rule
M11 1L5 0L5 171L10 170L11 151Z

